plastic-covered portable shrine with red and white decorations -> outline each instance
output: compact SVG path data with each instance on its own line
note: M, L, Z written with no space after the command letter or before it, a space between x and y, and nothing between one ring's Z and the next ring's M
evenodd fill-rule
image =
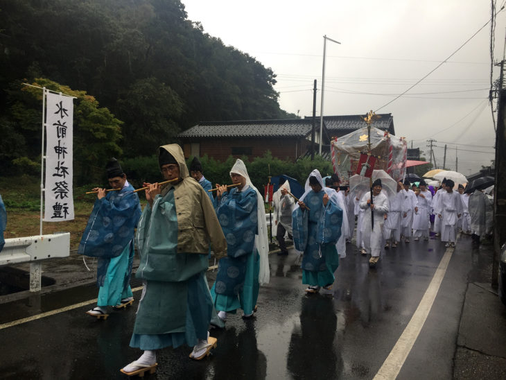
M370 153L367 148L367 126L331 141L334 172L345 182L351 175L369 173L373 169L384 170L394 180L403 180L407 154L408 144L403 137L374 127L371 127Z

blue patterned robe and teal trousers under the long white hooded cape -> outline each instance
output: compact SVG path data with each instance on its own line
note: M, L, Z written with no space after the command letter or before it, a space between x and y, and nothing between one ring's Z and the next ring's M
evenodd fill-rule
M253 312L259 295L259 254L254 248L257 223L256 191L232 189L215 200L218 221L227 239L227 257L220 259L211 288L218 311Z

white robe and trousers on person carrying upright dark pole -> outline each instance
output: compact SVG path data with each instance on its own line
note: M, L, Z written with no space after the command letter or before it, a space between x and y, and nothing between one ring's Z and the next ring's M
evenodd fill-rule
M360 200L360 208L365 211L362 223L363 239L367 252L370 252L372 257L378 257L383 248L383 224L385 222L383 214L388 212L388 199L383 193L373 196L374 227L371 222L371 207L367 205L369 199L371 199L371 193L367 192Z

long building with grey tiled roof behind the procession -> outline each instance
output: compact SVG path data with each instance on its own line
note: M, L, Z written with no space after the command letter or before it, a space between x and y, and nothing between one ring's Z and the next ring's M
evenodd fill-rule
M394 134L391 114L381 114L376 128ZM331 137L347 135L364 126L360 115L324 116L322 153L330 150ZM181 132L184 155L208 155L223 161L232 155L259 157L270 150L273 157L295 161L311 155L313 118L286 120L207 121ZM315 119L315 152L318 150L320 118Z

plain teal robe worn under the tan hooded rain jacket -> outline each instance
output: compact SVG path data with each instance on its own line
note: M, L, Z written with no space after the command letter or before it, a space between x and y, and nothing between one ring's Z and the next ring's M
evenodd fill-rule
M194 346L207 339L213 302L205 281L207 254L177 252L173 187L156 196L137 228L140 263L136 276L144 289L131 347Z

